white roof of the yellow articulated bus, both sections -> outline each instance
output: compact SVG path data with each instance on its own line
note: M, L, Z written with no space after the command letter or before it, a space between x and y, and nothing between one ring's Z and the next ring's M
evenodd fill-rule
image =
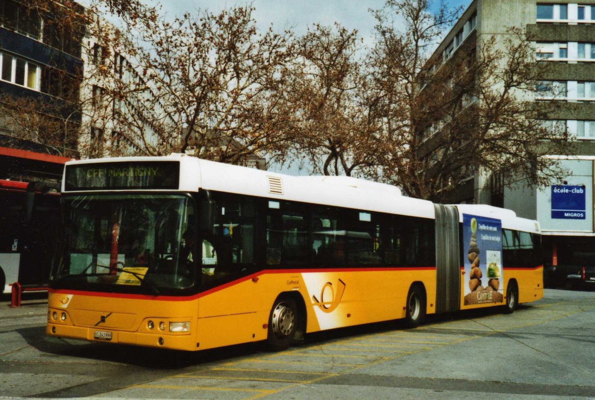
M180 190L183 191L195 192L202 188L278 201L300 201L414 217L435 217L434 204L430 201L403 196L396 186L346 176L291 176L202 160L185 154L68 161L66 165L126 161L180 161ZM456 207L461 223L462 214L471 214L502 220L502 227L506 229L540 232L537 221L516 217L512 210L475 204L457 204Z

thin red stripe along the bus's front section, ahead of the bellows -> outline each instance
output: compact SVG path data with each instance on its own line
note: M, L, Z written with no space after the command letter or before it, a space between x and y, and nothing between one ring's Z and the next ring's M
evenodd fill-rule
M93 297L108 297L116 299L140 299L140 300L155 300L155 301L188 301L194 300L206 295L210 295L228 287L239 285L242 282L252 280L264 274L296 274L296 273L323 273L323 272L362 272L362 271L431 271L436 270L436 267L390 267L390 268L346 268L339 270L337 268L328 268L321 270L263 270L248 276L241 277L224 285L215 286L212 289L205 290L201 293L196 293L189 296L151 296L151 295L134 295L131 293L106 293L106 292L89 292L87 290L70 290L70 289L49 289L49 293L63 294L63 295L81 295Z

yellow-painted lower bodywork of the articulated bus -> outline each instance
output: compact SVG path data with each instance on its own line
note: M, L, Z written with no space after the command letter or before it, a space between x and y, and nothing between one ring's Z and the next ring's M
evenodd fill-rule
M543 296L541 273L541 268L507 270L506 284L516 279L520 301L533 301ZM306 333L404 318L406 296L414 282L424 285L426 311L433 314L434 268L264 271L188 298L50 290L46 332L75 339L202 350L265 340L271 308L280 293L303 302ZM462 306L477 307L486 305ZM54 312L57 319L52 317ZM67 314L65 321L62 312ZM170 323L186 321L190 322L189 332L169 332Z

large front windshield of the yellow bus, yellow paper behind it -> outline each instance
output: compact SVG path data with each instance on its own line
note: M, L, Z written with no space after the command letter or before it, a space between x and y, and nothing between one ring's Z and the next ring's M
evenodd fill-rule
M64 249L54 287L157 295L195 283L188 195L64 196Z

